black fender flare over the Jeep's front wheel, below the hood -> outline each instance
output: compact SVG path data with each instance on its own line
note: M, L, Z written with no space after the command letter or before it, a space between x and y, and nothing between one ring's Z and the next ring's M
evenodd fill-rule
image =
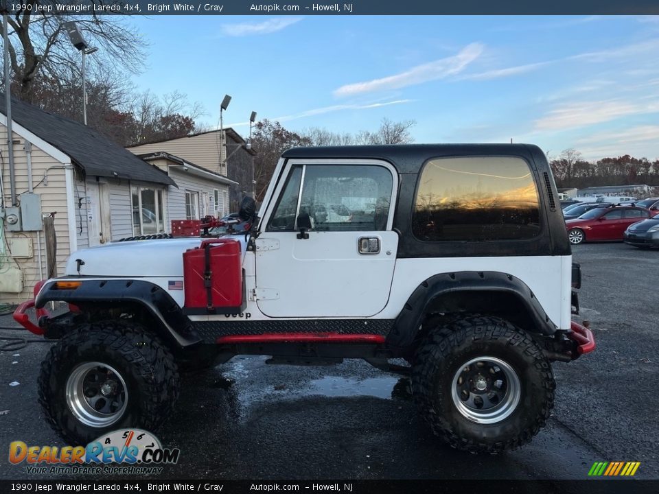
M67 280L73 281L73 280ZM80 280L73 290L60 290L56 280L48 281L34 300L34 306L43 307L47 302L67 302L73 305L93 304L99 307L117 307L130 303L146 309L159 324L164 336L178 346L190 346L201 341L181 307L174 298L158 285L134 279Z

